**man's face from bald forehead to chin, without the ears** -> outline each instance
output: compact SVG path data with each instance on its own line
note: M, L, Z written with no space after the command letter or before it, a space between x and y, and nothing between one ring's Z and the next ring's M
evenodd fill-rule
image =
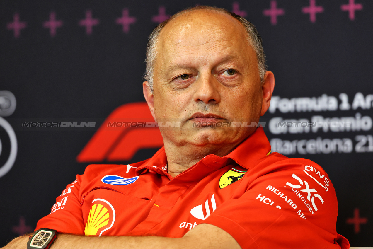
M160 127L165 142L235 144L255 130L241 126L258 122L263 97L256 54L246 37L231 16L205 10L164 27L150 109L157 122L180 122L178 128ZM241 124L229 127L229 122Z

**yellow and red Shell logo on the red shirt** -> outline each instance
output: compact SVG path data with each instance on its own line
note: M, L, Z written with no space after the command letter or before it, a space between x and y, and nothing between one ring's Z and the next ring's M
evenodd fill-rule
M85 236L101 236L112 228L115 221L115 210L110 202L104 199L94 199L85 224Z

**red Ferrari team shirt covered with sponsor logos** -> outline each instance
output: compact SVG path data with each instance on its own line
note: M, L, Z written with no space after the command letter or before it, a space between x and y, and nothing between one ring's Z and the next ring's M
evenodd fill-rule
M337 199L313 161L270 153L262 128L224 157L207 155L176 177L161 148L131 165L90 165L38 221L60 233L182 237L218 226L242 248L348 248Z

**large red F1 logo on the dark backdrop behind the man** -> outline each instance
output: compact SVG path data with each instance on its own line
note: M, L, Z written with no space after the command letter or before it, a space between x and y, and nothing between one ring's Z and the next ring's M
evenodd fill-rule
M146 102L117 107L90 141L76 161L79 163L129 161L140 149L160 148L163 138L154 123Z

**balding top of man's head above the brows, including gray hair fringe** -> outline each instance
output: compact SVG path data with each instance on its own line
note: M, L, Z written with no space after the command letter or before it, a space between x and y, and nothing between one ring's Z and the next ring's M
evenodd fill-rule
M195 29L194 32L193 29ZM226 32L221 32L223 30L232 31L230 37L226 37ZM260 35L256 31L254 25L241 16L225 9L210 6L196 6L176 13L171 16L170 19L158 25L151 33L147 45L147 66L145 73L145 79L147 79L151 91L153 91L156 61L159 56L163 56L160 53L163 53L166 46L171 45L171 47L175 47L175 45L183 41L185 37L200 41L200 43L194 43L194 46L203 45L208 42L205 37L201 39L199 35L197 35L198 32L195 31L200 31L202 33L210 32L209 38L215 40L233 38L245 40L246 45L249 45L256 55L258 74L261 81L263 81L264 73L266 72L265 56ZM171 41L173 41L174 44L169 44Z

